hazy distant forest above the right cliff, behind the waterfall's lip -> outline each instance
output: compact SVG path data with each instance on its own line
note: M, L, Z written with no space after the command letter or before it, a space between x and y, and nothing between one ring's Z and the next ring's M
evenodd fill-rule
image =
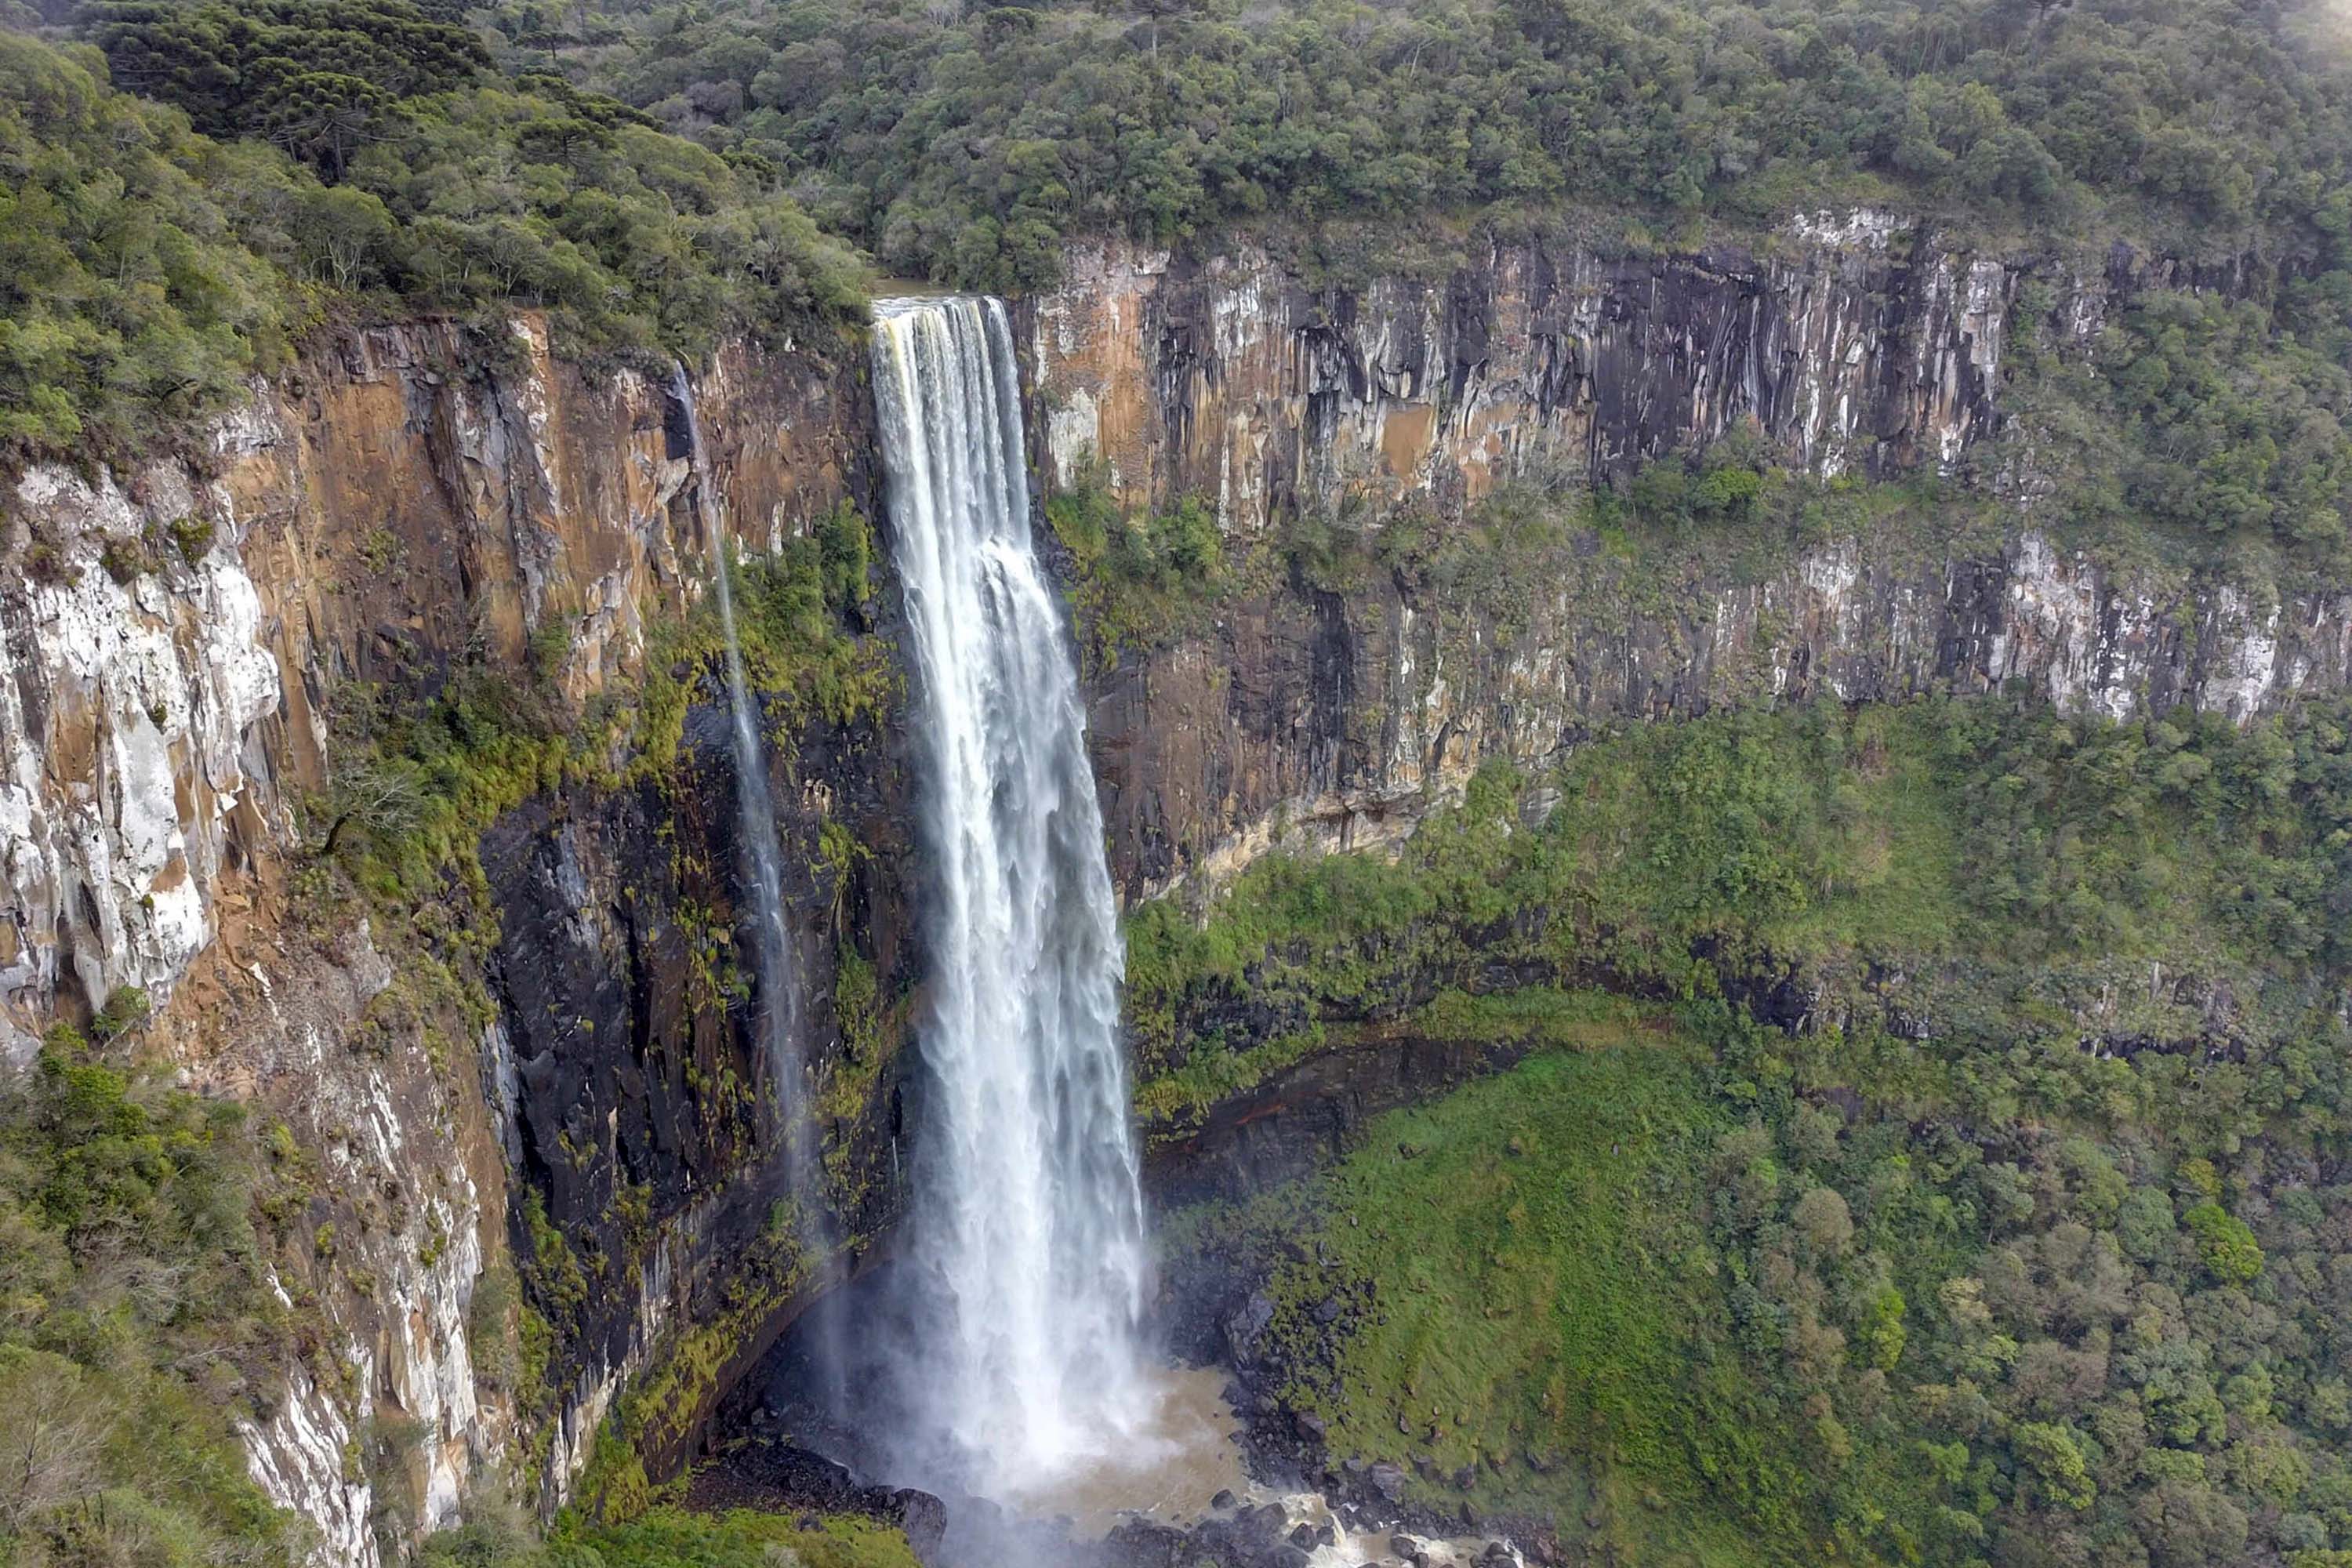
M1778 223L1877 200L2199 254L2343 233L2314 0L508 0L508 59L753 148L884 268L1035 287L1073 233Z

